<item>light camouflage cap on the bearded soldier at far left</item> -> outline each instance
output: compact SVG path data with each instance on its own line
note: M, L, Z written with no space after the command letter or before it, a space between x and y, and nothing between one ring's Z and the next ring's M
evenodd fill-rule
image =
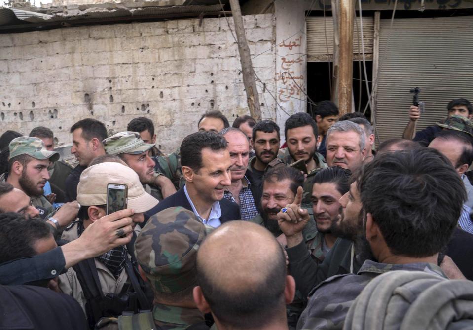
M11 140L8 145L10 159L19 155L28 155L39 160L49 159L52 162L59 160L59 153L46 150L41 139L29 136L20 136Z

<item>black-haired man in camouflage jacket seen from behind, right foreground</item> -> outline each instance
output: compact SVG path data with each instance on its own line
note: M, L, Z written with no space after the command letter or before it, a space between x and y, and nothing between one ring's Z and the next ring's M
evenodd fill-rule
M414 176L415 180L407 179ZM371 255L377 262L365 260L357 275L334 276L316 287L298 329L342 329L355 298L369 281L387 271L426 271L446 278L437 266L442 262L439 252L456 227L466 192L437 150L418 148L377 156L364 166L352 189L358 190L364 210L360 213L366 215L364 244L357 254ZM353 211L343 206L344 214Z

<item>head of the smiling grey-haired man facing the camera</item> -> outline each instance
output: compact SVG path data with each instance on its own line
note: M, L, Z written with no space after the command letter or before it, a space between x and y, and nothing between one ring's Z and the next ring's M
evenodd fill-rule
M366 135L360 125L343 120L327 132L327 164L354 173L366 156Z

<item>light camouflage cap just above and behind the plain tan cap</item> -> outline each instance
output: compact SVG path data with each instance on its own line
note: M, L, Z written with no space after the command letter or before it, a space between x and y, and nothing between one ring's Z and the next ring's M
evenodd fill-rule
M137 155L156 146L155 143L145 143L140 138L140 133L138 132L120 132L105 139L102 143L104 144L105 152L109 155L118 155L120 153Z

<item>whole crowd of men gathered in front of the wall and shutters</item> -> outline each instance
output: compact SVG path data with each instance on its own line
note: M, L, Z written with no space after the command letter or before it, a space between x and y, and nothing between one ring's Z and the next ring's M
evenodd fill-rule
M284 130L207 112L170 154L148 118L85 118L74 168L4 132L0 328L472 329L473 109L447 110L376 150L330 101Z

